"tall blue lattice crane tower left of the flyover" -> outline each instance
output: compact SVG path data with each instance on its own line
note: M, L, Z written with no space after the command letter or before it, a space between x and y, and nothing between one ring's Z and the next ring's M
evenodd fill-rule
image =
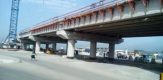
M9 34L6 37L6 39L3 41L3 45L7 45L10 48L13 48L17 42L19 2L20 0L12 0Z

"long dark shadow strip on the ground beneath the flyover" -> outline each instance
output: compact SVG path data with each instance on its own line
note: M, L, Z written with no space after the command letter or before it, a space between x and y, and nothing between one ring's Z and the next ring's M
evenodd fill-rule
M125 66L132 66L132 67L138 67L141 69L146 69L149 71L152 71L154 73L160 74L163 72L163 64L160 63L141 63L141 62L134 62L134 61L128 61L128 60L108 60L107 58L96 58L96 59L90 59L89 56L82 56L78 55L76 56L76 59L87 61L87 62L98 62L98 63L109 63L109 64L116 64L116 65L125 65Z

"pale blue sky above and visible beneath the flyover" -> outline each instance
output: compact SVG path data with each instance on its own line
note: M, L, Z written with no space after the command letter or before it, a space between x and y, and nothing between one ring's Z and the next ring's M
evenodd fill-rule
M98 0L21 0L18 32L45 21L49 18L77 10ZM0 0L0 41L8 35L12 0ZM163 51L163 37L124 38L124 42L116 45L116 49ZM89 42L78 41L77 47L89 47ZM98 44L108 47L108 44Z

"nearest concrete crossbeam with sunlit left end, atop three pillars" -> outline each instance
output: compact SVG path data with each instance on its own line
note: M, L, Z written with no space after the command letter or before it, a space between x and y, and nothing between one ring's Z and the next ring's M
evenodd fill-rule
M57 31L56 34L63 39L73 39L73 40L83 40L83 41L95 40L97 42L102 42L102 43L109 43L112 41L117 44L123 42L123 39L121 38L114 38L114 37L108 37L108 36L97 35L97 34L70 32L65 30Z

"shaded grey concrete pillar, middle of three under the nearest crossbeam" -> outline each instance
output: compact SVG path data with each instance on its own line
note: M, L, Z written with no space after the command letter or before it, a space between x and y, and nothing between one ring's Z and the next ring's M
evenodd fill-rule
M90 44L90 58L95 59L96 58L96 41L91 41Z

